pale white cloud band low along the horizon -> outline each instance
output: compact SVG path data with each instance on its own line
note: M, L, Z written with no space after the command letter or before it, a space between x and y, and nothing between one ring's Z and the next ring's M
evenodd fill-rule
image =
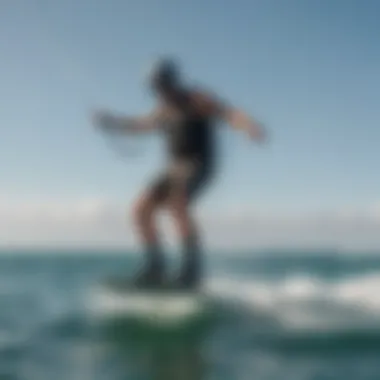
M0 197L0 244L59 246L136 245L125 204L88 197L20 200ZM286 212L259 208L199 210L210 248L380 248L379 204L359 209ZM176 242L173 226L164 231ZM172 239L174 238L174 239Z

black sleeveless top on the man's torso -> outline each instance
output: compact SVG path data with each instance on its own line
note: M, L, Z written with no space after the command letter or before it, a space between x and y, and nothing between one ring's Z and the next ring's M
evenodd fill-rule
M184 93L172 108L178 117L170 121L167 128L171 158L211 165L215 150L211 118L195 109L188 93Z

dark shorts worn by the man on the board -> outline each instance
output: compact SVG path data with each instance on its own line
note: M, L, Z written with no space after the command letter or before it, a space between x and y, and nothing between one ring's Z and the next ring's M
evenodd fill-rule
M151 184L157 202L165 202L172 195L184 192L189 202L194 201L210 181L211 167L195 161L175 162Z

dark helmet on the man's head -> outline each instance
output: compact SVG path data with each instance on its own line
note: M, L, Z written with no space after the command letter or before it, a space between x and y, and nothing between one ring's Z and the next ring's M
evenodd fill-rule
M179 82L179 69L176 62L170 58L159 59L154 62L149 72L151 87L173 87Z

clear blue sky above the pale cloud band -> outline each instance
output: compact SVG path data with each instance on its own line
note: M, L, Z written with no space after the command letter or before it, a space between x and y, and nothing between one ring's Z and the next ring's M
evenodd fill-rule
M121 162L88 113L149 110L141 73L164 53L272 134L257 148L223 130L223 172L207 202L378 200L379 14L376 0L3 1L1 192L135 196L162 164L160 141Z

